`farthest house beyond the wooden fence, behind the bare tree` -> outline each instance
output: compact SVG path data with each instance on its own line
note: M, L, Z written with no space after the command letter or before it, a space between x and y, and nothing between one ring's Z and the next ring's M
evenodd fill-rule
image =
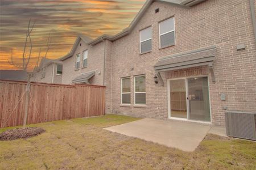
M63 63L58 59L42 58L32 77L34 82L62 83Z

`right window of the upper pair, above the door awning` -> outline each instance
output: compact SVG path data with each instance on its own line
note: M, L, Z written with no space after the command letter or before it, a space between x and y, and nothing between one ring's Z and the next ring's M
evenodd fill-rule
M174 17L159 23L160 48L175 45Z

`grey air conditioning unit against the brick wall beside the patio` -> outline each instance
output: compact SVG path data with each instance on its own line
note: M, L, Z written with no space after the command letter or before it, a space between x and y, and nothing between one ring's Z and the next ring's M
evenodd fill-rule
M256 112L226 111L226 134L256 141Z

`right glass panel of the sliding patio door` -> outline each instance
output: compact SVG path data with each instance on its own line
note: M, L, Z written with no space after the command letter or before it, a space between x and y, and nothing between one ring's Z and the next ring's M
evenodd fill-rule
M190 120L210 121L208 78L188 78L188 105Z

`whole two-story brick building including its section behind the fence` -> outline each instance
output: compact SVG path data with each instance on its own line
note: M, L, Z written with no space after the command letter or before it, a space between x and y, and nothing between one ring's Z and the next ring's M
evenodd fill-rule
M225 126L225 110L256 110L255 8L148 0L117 35L79 35L63 83L106 86L106 113Z

